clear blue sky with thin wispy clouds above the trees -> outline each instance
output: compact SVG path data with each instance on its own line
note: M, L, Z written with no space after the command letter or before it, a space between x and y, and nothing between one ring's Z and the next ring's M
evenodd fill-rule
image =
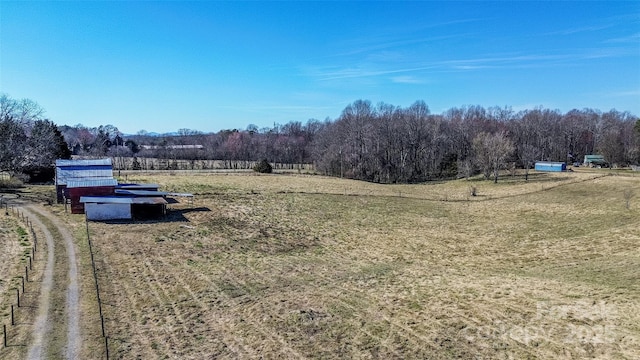
M124 133L335 119L358 99L640 115L640 2L0 1L0 91Z

